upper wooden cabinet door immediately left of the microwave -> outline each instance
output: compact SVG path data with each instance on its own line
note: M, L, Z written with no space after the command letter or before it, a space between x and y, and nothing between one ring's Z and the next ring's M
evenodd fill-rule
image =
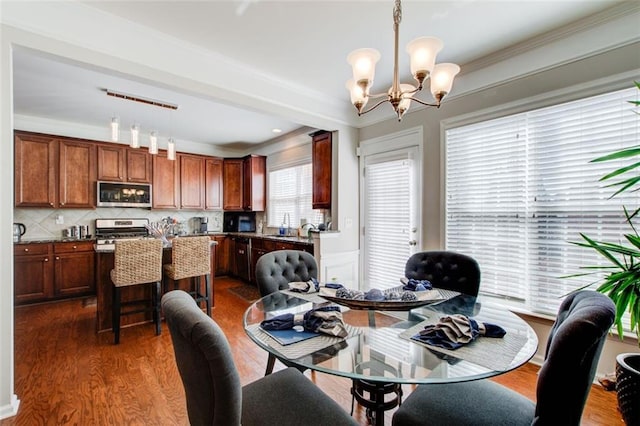
M96 145L60 141L59 207L95 208L96 177Z

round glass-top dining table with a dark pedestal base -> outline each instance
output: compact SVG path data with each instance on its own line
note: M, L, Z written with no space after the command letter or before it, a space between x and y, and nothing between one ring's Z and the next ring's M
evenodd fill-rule
M437 289L436 289L437 290ZM538 348L535 331L504 306L455 292L411 309L353 308L323 298L318 293L283 290L254 302L243 321L249 338L288 364L353 381L354 398L367 408L369 420L383 424L384 411L402 397L402 384L437 384L486 379L528 362ZM303 314L320 306L340 306L348 331L344 338L291 331L283 340L269 334L260 323L281 314ZM414 339L426 325L445 315L462 314L479 323L502 327L502 338L480 336L450 350ZM369 397L364 397L364 391ZM395 392L391 401L385 394Z

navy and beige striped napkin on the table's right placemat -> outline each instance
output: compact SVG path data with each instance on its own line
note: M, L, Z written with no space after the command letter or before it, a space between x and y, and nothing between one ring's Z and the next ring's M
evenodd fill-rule
M466 315L447 315L437 324L430 324L413 336L415 340L444 349L458 349L478 336L503 337L507 332L500 326L481 323Z

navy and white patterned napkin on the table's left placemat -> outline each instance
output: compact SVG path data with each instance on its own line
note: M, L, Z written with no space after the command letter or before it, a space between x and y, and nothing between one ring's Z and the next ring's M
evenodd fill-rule
M260 327L265 330L288 330L297 325L307 331L331 336L349 335L338 306L323 306L301 314L282 314L260 323Z

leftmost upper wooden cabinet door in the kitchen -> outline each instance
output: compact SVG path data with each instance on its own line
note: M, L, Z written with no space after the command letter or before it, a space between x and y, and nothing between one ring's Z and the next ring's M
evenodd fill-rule
M57 207L55 139L16 132L16 207Z

